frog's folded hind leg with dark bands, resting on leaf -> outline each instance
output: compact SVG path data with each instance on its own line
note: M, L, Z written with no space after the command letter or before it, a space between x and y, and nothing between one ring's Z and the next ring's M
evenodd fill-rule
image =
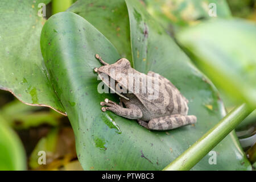
M150 130L171 130L180 126L196 123L195 115L173 114L160 118L151 119L148 122Z

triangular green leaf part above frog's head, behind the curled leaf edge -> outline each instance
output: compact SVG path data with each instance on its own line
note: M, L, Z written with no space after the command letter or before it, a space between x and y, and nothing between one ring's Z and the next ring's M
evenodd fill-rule
M68 11L88 20L113 43L122 57L131 60L129 17L124 0L79 0Z

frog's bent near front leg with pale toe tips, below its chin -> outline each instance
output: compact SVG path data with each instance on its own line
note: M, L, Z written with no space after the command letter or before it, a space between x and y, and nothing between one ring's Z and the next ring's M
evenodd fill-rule
M102 111L110 110L113 113L120 115L125 118L129 119L139 119L142 118L142 111L139 109L137 106L133 106L131 108L124 108L117 103L108 100L108 98L105 99L105 102L100 103L101 106L107 106L107 107L102 107Z

